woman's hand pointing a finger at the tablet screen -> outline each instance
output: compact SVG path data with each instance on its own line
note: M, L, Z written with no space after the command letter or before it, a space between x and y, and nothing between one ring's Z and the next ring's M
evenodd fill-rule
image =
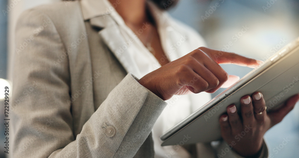
M234 82L219 64L256 67L261 61L244 56L200 47L145 75L138 82L163 100L173 95L213 93L225 82Z

